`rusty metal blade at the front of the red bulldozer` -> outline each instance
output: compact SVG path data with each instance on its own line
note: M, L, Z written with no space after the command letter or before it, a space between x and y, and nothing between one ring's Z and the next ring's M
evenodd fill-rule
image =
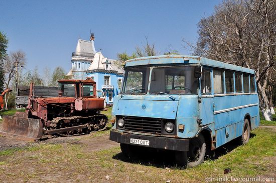
M3 116L0 134L23 140L35 141L42 137L42 122L39 119L19 116Z

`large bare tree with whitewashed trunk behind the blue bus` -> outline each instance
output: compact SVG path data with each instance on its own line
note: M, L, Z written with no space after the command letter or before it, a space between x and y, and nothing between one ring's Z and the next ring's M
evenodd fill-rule
M196 45L183 40L193 54L255 70L259 104L266 120L271 120L272 104L265 92L276 53L275 0L228 0L198 24Z

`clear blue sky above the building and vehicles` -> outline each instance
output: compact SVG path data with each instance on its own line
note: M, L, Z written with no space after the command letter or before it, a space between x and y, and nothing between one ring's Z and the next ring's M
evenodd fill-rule
M0 31L9 38L8 53L22 50L26 69L71 67L78 38L95 34L96 51L116 59L135 46L155 43L160 53L172 45L182 54L182 39L196 42L197 23L221 1L2 1ZM41 73L42 74L42 73Z

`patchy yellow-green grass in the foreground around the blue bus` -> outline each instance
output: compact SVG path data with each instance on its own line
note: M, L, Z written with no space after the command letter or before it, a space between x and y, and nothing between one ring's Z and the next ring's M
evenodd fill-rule
M45 172L53 181L63 177L63 181L79 179L80 182L102 182L106 175L111 182L204 182L205 177L257 176L271 170L273 160L269 159L276 156L276 133L259 128L252 134L248 144L187 169L175 166L170 156L162 153L130 160L122 155L119 147L87 152L83 144L39 144L0 154L0 181L41 181L41 178L47 181ZM231 168L232 172L224 175L225 168Z

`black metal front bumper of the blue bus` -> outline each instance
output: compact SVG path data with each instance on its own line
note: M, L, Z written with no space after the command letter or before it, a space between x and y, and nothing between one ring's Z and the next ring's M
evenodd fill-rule
M133 141L133 139L135 140ZM123 132L111 130L109 140L112 140L118 143L139 145L139 146L152 147L157 149L167 149L167 150L177 150L177 151L189 150L189 139L136 135L136 134L123 133ZM130 143L130 140L131 142L137 142L139 140L146 140L146 141L148 140L149 143L147 145L133 144L133 143Z

